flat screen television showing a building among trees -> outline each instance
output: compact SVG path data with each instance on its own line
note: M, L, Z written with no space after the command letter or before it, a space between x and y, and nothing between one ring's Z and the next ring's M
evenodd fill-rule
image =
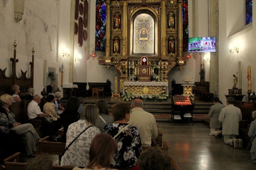
M188 38L188 52L216 52L216 37Z

